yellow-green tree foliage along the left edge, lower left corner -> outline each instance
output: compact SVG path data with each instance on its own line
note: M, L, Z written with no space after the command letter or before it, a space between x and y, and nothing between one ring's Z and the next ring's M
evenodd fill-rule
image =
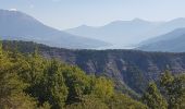
M0 108L35 109L36 100L23 92L27 84L22 81L14 68L15 63L3 51L0 56Z

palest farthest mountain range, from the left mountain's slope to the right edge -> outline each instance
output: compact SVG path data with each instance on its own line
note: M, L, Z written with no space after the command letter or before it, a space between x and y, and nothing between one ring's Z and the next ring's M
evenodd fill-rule
M115 21L104 26L91 27L79 26L65 32L88 38L96 38L103 41L125 46L137 45L143 40L166 34L176 28L185 27L185 19L175 19L169 22L149 22L140 19L133 21Z

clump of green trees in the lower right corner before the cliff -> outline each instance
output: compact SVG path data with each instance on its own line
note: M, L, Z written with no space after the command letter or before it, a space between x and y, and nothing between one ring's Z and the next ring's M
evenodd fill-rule
M165 71L156 83L150 83L141 97L150 109L185 109L185 74L172 75Z

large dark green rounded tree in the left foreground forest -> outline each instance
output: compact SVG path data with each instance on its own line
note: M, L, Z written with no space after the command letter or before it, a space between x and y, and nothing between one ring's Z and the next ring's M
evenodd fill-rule
M57 60L51 60L42 64L45 66L41 71L36 68L37 65L39 66L38 63L33 64L34 69L32 71L35 71L35 82L27 88L27 92L33 97L38 98L39 106L48 102L52 109L61 109L65 105L69 93L62 74L61 63Z

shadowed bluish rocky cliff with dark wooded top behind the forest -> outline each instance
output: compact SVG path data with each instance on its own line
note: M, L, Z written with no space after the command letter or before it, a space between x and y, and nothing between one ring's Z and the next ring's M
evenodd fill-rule
M146 84L157 80L164 70L174 74L185 72L185 53L144 52L135 50L67 50L33 43L4 43L8 48L17 46L22 52L33 52L35 46L46 58L57 58L77 65L88 74L112 78L116 88L143 93Z

